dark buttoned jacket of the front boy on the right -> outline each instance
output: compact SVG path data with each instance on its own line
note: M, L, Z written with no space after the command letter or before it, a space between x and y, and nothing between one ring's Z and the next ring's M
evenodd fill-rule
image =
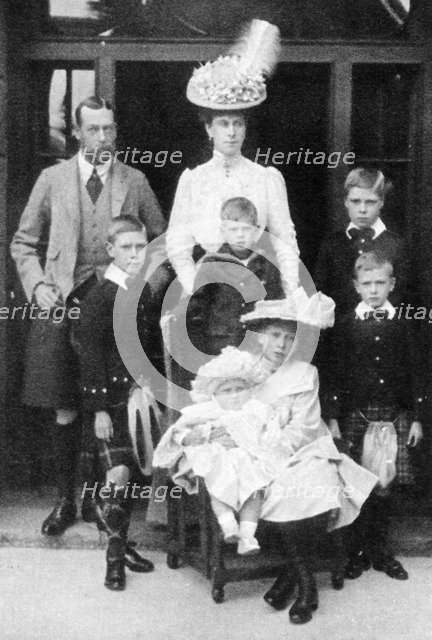
M352 312L336 323L322 380L326 418L372 405L419 414L424 384L414 322L402 313L399 319L396 309L392 320Z

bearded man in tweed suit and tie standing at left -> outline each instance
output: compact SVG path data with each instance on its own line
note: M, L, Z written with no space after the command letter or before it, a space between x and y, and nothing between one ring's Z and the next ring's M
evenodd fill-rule
M52 425L59 499L42 532L60 535L74 522L74 481L80 438L78 367L70 334L72 320L54 320L59 306L79 303L108 266L108 227L116 216L144 223L149 241L165 227L145 176L117 162L111 105L90 97L76 109L80 151L39 176L14 235L11 254L29 302L51 310L35 319L26 354L23 401L53 409ZM45 263L41 246L47 244Z

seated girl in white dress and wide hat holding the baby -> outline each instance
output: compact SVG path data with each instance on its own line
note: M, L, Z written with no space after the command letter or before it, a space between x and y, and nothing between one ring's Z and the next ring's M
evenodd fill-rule
M374 488L377 478L337 450L321 420L318 374L311 364L319 327L332 325L334 303L303 289L290 300L257 302L242 317L246 327L259 332L263 353L258 366L262 382L254 397L275 410L285 409L283 427L287 462L268 486L261 518L278 530L287 563L264 599L284 609L296 586L291 622L302 624L318 607L318 592L308 556L326 530L350 524ZM307 351L309 350L309 354ZM301 354L301 355L299 355ZM310 362L310 359L309 359ZM333 576L343 586L343 573Z

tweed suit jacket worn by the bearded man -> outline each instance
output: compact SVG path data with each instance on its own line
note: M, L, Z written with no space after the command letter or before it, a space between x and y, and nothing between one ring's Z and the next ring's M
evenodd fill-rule
M11 245L28 300L39 282L55 285L64 300L73 289L81 220L79 180L75 155L42 171L33 187ZM163 233L165 221L143 173L114 162L111 191L113 218L139 217L149 241ZM45 269L40 256L44 238L48 239Z

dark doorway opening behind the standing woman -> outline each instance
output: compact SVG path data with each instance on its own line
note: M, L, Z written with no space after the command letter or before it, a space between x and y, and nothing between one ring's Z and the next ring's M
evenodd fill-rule
M119 142L125 151L143 152L142 169L156 192L164 213L169 215L178 178L186 167L205 162L211 156L204 127L195 107L185 98L185 89L196 63L127 62L116 67L116 106ZM286 180L291 215L296 226L301 257L308 268L322 240L329 217L326 198L327 169L321 164L297 163L299 156L288 153L325 152L328 131L330 69L318 64L280 64L269 83L269 98L252 114L244 153L264 161L269 152L282 152L284 163L277 164ZM156 166L155 154L168 152L164 166ZM181 151L181 163L169 162L169 154ZM126 156L125 156L126 157ZM312 156L310 156L312 157ZM162 158L160 154L159 158ZM279 156L281 158L281 156ZM161 162L159 162L161 164Z

